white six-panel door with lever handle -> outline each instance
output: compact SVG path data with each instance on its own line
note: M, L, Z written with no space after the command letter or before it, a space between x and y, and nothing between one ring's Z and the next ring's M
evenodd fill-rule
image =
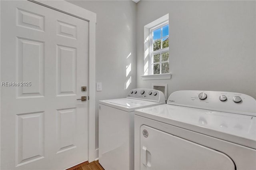
M88 101L77 100L88 96L88 22L30 1L0 3L1 170L88 160Z

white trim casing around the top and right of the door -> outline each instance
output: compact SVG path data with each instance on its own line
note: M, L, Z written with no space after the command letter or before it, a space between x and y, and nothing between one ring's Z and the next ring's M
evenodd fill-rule
M58 1L44 1L44 0L30 0L37 4L41 4L48 8L64 12L71 16L86 20L89 22L89 47L88 47L88 161L92 162L98 158L98 149L95 147L95 91L96 91L96 13L66 2L64 0ZM1 44L0 44L1 47ZM0 162L1 163L1 162Z

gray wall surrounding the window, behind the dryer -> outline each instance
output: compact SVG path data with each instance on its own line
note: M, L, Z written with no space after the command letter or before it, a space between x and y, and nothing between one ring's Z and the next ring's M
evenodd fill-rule
M233 91L256 98L255 1L140 1L137 87ZM144 26L169 13L172 79L142 80Z

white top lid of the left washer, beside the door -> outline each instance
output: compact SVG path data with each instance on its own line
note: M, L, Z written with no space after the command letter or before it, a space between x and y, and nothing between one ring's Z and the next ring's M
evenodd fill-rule
M158 102L129 99L129 98L103 100L103 101L99 101L99 103L102 105L107 105L107 106L114 107L116 109L120 109L127 112L132 112L135 109L140 109L144 107L165 104L165 102L158 103Z

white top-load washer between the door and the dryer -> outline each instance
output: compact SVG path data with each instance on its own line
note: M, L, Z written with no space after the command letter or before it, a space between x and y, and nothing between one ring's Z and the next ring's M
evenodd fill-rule
M134 110L163 104L164 93L153 89L99 101L99 163L105 170L134 169Z

